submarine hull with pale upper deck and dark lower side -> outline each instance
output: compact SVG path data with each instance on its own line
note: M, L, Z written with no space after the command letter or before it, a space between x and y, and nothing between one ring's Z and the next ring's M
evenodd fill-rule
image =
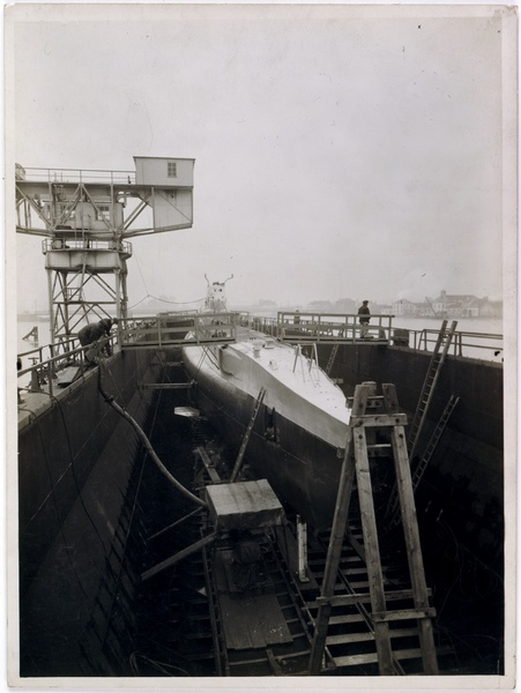
M292 349L276 347L260 358L251 356L247 347L224 353L234 364L233 375L227 374L225 369L232 368L226 363L222 367L224 359L218 351L211 358L199 348L184 349L186 370L196 383L197 404L237 454L260 389L265 388L245 461L312 527L327 527L333 519L347 434L344 395L323 372L310 382L308 362L301 373L298 367L292 371ZM278 365L272 368L274 361Z

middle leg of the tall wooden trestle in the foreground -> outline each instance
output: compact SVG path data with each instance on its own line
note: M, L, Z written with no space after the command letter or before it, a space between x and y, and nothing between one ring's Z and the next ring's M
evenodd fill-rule
M367 574L369 575L369 589L371 592L371 611L385 611L384 581L364 428L355 428L353 441L355 445L358 499L364 534L364 552L367 556ZM375 639L380 675L392 675L394 672L393 654L389 638L389 624L387 622L383 621L375 624Z

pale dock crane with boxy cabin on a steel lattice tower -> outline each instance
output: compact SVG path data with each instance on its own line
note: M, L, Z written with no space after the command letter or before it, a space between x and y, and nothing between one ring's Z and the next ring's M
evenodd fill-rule
M134 157L134 170L16 165L17 231L43 236L51 342L127 317L130 238L188 229L195 159Z

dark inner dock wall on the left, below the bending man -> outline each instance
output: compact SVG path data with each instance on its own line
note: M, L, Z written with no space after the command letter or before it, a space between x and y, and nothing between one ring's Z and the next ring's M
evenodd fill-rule
M151 354L116 353L103 371L105 390L140 426L154 391L139 385L159 372ZM19 432L21 676L118 673L113 629L125 615L114 597L132 599L124 562L140 449L100 394L98 368Z

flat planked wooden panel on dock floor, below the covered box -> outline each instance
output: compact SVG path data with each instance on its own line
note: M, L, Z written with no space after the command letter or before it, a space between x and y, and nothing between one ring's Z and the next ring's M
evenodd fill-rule
M258 649L293 642L274 595L219 595L224 638L229 649Z

